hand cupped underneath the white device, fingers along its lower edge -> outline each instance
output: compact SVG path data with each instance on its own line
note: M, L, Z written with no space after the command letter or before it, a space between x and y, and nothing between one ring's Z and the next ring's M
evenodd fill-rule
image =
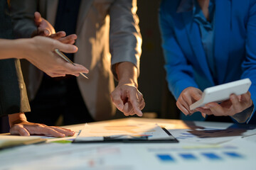
M242 94L240 96L231 94L229 100L223 101L220 104L215 102L207 103L205 108L196 108L196 111L200 111L201 113L205 113L207 115L232 116L236 113L244 111L246 108L250 108L250 106L252 106L252 99L250 92L247 91L246 94Z

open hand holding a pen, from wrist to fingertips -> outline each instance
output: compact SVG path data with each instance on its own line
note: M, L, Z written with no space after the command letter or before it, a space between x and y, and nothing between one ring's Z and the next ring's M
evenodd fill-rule
M73 64L65 62L65 60L53 52L55 48L68 53L77 52L78 47L75 47L75 45L63 44L58 40L41 36L21 39L20 41L21 44L24 45L21 48L23 58L38 67L38 69L46 72L50 77L65 77L65 74L73 74L78 77L80 72L89 72L88 69L80 64L75 64L74 66Z

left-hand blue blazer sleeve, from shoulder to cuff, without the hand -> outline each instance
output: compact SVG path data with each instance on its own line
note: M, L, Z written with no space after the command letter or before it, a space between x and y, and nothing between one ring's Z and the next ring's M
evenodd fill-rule
M162 47L166 69L166 80L169 90L177 99L181 91L188 86L198 88L193 78L193 67L188 64L181 47L176 41L174 23L170 13L170 1L162 1L159 11L159 24L161 30Z

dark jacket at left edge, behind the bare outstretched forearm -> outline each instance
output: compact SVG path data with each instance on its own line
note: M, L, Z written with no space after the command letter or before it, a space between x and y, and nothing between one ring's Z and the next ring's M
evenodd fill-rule
M6 0L0 0L0 38L12 39ZM30 111L26 86L17 59L0 60L0 116Z

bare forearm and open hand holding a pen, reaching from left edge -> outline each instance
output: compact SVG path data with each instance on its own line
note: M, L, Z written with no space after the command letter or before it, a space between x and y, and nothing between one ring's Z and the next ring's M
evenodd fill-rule
M77 52L78 50L75 45L63 44L58 40L41 36L18 40L0 39L0 59L26 59L50 77L60 77L65 74L79 76L80 72L88 73L82 65L73 66L55 55L53 52L55 48L63 52Z

